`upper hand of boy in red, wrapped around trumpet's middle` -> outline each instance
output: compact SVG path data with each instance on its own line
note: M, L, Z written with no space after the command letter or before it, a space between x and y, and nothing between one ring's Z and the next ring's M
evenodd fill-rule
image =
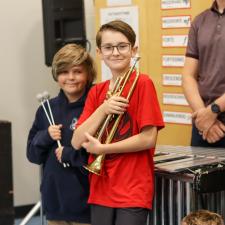
M121 96L112 96L104 101L104 111L108 114L123 114L129 106L128 100Z

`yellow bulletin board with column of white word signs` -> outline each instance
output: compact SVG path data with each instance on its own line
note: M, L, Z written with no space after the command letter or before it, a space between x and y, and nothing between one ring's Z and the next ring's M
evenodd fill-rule
M212 0L95 0L96 30L100 11L112 7L138 7L140 71L153 80L165 128L157 144L189 145L191 109L181 87L188 31L194 17L210 8ZM117 3L116 3L117 2ZM101 63L98 61L98 81Z

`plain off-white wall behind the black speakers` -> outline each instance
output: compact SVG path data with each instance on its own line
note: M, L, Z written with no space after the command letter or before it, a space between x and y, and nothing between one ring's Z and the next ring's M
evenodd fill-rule
M85 6L87 37L94 42L93 0ZM1 0L0 18L0 120L12 122L14 205L21 206L39 200L39 167L26 159L36 95L47 90L54 96L58 88L44 64L41 0Z

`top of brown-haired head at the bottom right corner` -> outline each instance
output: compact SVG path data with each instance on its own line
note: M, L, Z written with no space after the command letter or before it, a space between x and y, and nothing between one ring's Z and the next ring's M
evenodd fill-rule
M224 225L222 217L208 210L192 212L182 220L182 225Z

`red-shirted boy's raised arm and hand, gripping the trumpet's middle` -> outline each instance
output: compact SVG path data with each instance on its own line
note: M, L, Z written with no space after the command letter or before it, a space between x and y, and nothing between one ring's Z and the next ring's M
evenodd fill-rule
M128 106L128 101L123 97L112 96L104 101L77 129L72 137L72 146L75 149L81 148L83 142L87 140L85 132L95 135L102 122L109 114L122 114ZM85 111L85 109L84 109Z

